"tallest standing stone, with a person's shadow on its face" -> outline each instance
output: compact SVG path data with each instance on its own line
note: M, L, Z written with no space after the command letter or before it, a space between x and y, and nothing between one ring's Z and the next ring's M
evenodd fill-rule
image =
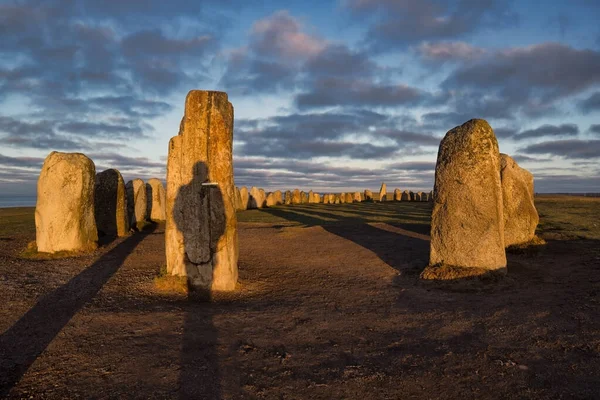
M169 142L165 241L167 271L201 290L234 290L238 278L232 144L227 94L189 92Z

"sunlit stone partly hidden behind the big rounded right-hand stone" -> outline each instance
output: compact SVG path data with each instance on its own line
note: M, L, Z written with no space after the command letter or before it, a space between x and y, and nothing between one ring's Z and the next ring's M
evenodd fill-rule
M540 221L533 196L533 175L506 154L500 154L504 208L504 245L529 242Z

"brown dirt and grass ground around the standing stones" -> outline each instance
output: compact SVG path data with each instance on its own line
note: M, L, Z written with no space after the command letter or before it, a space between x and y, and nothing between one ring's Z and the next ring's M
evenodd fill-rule
M499 282L424 283L430 205L239 214L240 284L157 290L162 227L31 260L32 209L0 210L0 396L600 398L600 202L540 198L547 245Z

